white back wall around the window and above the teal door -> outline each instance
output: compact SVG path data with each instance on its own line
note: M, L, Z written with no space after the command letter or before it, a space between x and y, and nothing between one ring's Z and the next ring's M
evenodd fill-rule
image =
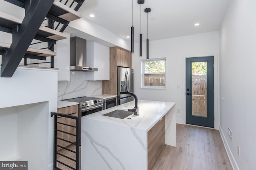
M134 92L139 99L158 100L164 102L176 102L176 121L185 123L185 112L183 109L183 98L185 97L184 79L184 57L202 57L219 53L218 31L162 39L149 42L149 58L166 57L166 90L148 90L141 87L141 61L146 59L146 45L143 43L143 57L139 57L139 45L134 45L132 55L132 68L134 69ZM180 88L177 88L177 85Z

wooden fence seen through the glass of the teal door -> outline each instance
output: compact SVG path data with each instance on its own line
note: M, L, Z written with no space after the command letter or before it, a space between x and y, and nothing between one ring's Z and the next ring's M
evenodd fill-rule
M192 76L192 115L207 117L206 75Z

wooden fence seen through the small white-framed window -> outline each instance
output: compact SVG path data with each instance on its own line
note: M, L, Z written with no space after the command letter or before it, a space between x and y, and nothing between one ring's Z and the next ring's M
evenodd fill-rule
M144 85L145 86L165 86L165 75L163 74L145 75Z

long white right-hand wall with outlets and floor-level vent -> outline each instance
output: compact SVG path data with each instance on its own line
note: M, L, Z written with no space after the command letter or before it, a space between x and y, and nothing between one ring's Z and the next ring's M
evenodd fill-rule
M241 170L256 167L255 6L255 0L230 1L220 28L220 129L234 168Z

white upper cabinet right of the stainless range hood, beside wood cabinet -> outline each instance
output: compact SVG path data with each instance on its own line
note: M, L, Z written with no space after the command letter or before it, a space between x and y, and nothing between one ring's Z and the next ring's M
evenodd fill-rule
M86 65L98 68L98 71L87 71L86 80L109 80L109 47L99 43L86 44Z

